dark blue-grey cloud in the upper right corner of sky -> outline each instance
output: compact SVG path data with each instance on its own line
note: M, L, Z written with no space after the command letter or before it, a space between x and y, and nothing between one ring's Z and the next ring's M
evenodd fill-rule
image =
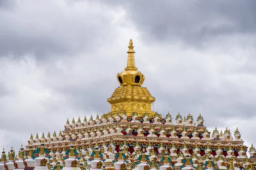
M127 15L143 39L157 43L182 41L201 47L217 36L255 33L256 2L227 1L114 1ZM114 5L113 1L106 2Z

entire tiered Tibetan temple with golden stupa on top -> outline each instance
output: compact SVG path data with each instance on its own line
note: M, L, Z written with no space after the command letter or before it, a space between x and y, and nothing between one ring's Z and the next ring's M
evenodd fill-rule
M108 98L111 112L67 119L58 135L31 134L18 152L3 150L0 170L254 170L256 150L243 144L238 129L209 132L201 114L154 112L132 40L127 53L127 67L116 77L120 87Z

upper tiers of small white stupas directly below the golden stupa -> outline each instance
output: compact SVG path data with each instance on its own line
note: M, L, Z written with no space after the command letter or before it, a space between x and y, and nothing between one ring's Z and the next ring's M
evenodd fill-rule
M93 120L92 116L89 121L84 117L83 122L81 122L80 118L77 122L73 119L71 124L67 120L65 130L60 131L58 136L54 132L52 137L50 133L45 137L43 133L41 139L39 139L38 134L33 139L31 134L27 149L29 146L37 147L41 143L44 143L47 147L60 147L71 142L79 145L88 145L89 143L94 144L103 140L106 142L115 141L118 144L123 142L124 139L128 140L131 146L139 140L140 144L164 142L170 145L172 142L175 142L176 145L182 145L183 142L186 142L192 146L195 143L200 145L209 144L213 148L222 144L226 149L229 145L232 145L232 149L235 149L235 151L238 151L240 147L243 150L247 149L243 145L238 129L232 135L227 128L224 130L224 133L222 130L219 133L217 128L215 128L210 137L210 132L203 123L204 119L201 114L198 116L196 125L190 113L183 120L180 113L178 113L175 123L172 122L170 113L166 115L165 119L160 118L158 113L155 113L153 119L148 117L147 113L145 113L143 119L138 117L137 113L134 113L134 116L131 118L126 116L125 113L120 114L120 116L116 114L116 116L110 116L107 119L105 114L102 116L102 119L99 119L97 115L96 120Z

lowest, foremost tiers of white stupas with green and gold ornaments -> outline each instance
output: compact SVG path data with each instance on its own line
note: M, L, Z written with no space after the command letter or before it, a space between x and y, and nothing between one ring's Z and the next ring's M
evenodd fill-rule
M62 151L59 147L47 148L41 144L36 149L30 146L27 153L21 146L16 156L13 149L7 156L3 150L0 170L254 170L255 166L254 158L248 159L246 154L235 157L231 147L226 157L221 147L216 150L218 155L213 156L209 145L202 156L196 143L191 154L186 144L177 151L175 143L167 147L163 142L157 150L151 142L141 146L136 142L132 153L129 149L127 140L120 143L118 151L113 142L96 143L93 147L91 144L79 147L71 142ZM251 146L250 155L255 157L255 153L255 148Z

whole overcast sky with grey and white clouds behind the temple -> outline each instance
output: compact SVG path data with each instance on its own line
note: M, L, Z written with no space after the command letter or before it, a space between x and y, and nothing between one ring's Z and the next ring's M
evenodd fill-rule
M0 0L0 149L109 112L128 42L154 110L255 143L256 1Z

